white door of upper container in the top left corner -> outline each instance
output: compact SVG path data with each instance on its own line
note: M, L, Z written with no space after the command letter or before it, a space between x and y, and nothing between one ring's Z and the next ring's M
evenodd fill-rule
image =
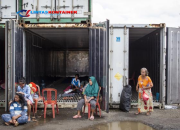
M7 19L16 19L16 3L16 0L0 0L0 23L5 23Z

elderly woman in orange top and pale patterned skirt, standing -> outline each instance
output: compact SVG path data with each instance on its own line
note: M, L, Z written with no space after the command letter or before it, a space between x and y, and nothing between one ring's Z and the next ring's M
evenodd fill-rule
M138 87L139 86L139 87ZM151 78L148 76L148 70L146 68L141 69L141 75L138 78L136 91L138 94L138 112L136 115L146 112L147 115L150 115L153 111L153 97L151 93L151 88L153 83ZM147 101L143 101L143 91L149 96Z

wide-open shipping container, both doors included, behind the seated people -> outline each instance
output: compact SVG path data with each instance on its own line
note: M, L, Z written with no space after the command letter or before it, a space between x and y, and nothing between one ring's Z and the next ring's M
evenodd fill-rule
M14 83L20 77L40 86L45 80L47 87L56 88L59 95L78 73L81 80L88 81L89 75L96 77L102 87L101 107L108 111L109 21L91 27L87 24L20 25L14 20L7 21L4 32L6 109L15 93ZM58 96L59 107L76 107L79 98L78 94L72 100ZM41 102L39 105L43 107Z

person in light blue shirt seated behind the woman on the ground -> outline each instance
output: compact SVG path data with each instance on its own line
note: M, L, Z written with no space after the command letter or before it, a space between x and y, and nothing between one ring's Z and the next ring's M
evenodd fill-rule
M31 89L29 85L26 84L24 78L19 80L19 86L17 87L17 93L21 93L24 95L25 100L27 101L28 106L28 121L31 121L31 104L33 103L33 98L30 93Z

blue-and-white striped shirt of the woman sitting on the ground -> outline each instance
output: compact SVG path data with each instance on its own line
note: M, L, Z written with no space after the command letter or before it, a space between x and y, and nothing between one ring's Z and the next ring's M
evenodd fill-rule
M27 115L27 104L24 105L24 108L22 108L21 104L19 104L18 102L11 103L10 114L12 117L17 115Z

